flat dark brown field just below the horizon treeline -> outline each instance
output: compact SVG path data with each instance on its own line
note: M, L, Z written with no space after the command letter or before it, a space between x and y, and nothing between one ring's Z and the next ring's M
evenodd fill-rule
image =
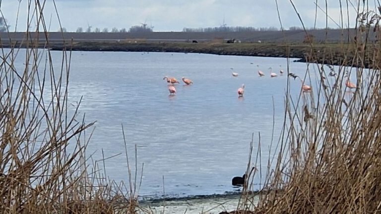
M316 42L347 42L352 41L356 32L350 30L311 30L309 34L315 36ZM373 32L371 32L373 34ZM213 40L236 39L242 42L303 42L306 33L303 30L295 31L255 31L255 32L213 32L213 33L190 33L190 32L151 32L151 33L61 33L50 32L48 37L52 42L64 40L74 41L110 41L110 40L138 40L138 41L158 41L158 42L209 42ZM7 42L10 37L13 41L21 41L26 38L25 32L0 33L2 42ZM31 38L44 39L43 33L30 34ZM359 35L357 36L359 37ZM374 36L370 36L374 38Z

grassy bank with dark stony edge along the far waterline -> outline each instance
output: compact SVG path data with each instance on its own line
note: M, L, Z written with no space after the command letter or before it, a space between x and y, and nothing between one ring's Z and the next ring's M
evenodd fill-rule
M371 48L370 48L371 47ZM355 44L316 43L312 46L304 43L184 43L184 42L75 42L73 44L53 44L52 50L73 51L114 51L114 52L180 52L219 55L245 55L266 57L299 58L300 62L318 62L332 65L349 65L375 67L374 62L381 61L376 55L377 46L370 45L368 50L362 50ZM355 55L365 56L355 57ZM349 60L351 59L351 60Z

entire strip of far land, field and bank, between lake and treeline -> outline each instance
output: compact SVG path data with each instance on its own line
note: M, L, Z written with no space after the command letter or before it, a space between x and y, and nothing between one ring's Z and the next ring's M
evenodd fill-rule
M28 41L38 41L39 47L52 50L74 51L124 51L124 52L180 52L220 55L246 55L299 58L301 62L318 62L333 65L377 67L380 44L375 44L374 33L369 36L367 50L356 45L354 29L312 30L314 44L303 43L306 32L255 31L255 32L151 32L151 33L30 33ZM25 32L1 33L1 46L25 46ZM5 39L9 38L9 39ZM47 39L46 39L47 38ZM227 44L227 40L237 42ZM48 41L47 44L46 41ZM197 43L192 43L197 41ZM357 41L362 41L357 39ZM64 45L65 43L65 45ZM359 42L360 43L360 42ZM30 47L30 45L29 45ZM362 53L366 53L365 56ZM363 55L362 57L354 57ZM375 56L375 57L374 57ZM355 60L349 60L353 59Z

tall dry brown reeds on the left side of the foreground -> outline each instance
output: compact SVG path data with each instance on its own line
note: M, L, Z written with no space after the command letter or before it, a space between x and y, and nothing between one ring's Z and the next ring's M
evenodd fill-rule
M55 4L28 1L27 29L37 23L35 33L44 40L31 38L27 31L18 44L25 49L15 45L0 52L0 210L136 213L136 188L129 191L124 183L108 181L98 167L105 158L89 167L92 159L85 148L91 132L86 131L94 123L78 118L80 102L68 103L71 53L63 51L61 64L53 63L43 15L46 3ZM5 39L10 37L0 42ZM47 49L38 48L41 42ZM130 185L135 183L130 180Z

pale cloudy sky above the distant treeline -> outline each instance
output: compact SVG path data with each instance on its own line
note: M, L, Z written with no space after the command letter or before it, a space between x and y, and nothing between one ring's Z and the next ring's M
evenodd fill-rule
M25 31L28 20L28 0L2 0L0 9L3 16L14 31L16 26L17 8L20 3L17 31ZM43 2L43 0L40 0ZM301 15L306 27L314 27L316 0L292 0ZM341 0L346 8L346 0ZM34 0L32 0L33 4ZM328 1L328 14L337 23L340 21L339 0ZM354 5L357 0L349 0ZM362 2L362 0L361 0ZM182 31L184 27L218 27L251 26L280 28L275 0L55 0L58 16L53 0L46 0L44 16L50 31L60 29L59 20L67 31L76 31L78 27L95 28L113 27L130 28L140 23L153 26L154 31ZM317 3L325 9L325 0ZM370 5L372 6L372 5ZM301 27L301 22L290 0L278 0L279 13L284 29L292 26ZM34 5L30 9L32 11ZM347 23L347 12L343 11L344 26ZM355 24L356 12L349 5L349 26ZM31 28L36 25L36 15L33 15ZM51 18L52 17L52 18ZM59 19L58 19L59 17ZM50 21L51 20L51 21ZM316 27L324 28L325 13L318 8ZM337 25L328 20L328 26Z

